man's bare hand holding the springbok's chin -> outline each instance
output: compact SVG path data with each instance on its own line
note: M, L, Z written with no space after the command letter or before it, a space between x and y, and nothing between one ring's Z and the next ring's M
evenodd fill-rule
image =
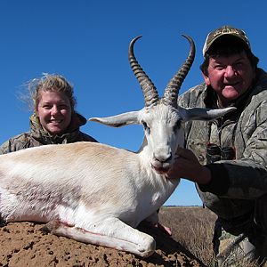
M185 178L199 184L210 182L210 170L198 162L191 150L178 148L176 155L174 166L166 174L167 178Z

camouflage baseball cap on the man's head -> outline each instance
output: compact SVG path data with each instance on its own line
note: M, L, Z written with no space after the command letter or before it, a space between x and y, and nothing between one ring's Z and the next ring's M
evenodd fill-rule
M203 56L205 56L205 53L208 51L208 49L211 47L212 44L214 44L214 41L222 36L234 36L239 38L239 40L243 41L245 44L247 44L247 48L250 50L250 44L247 38L247 35L244 30L239 28L233 28L231 26L223 26L221 28L217 28L214 31L210 32L206 36L206 41L203 46Z

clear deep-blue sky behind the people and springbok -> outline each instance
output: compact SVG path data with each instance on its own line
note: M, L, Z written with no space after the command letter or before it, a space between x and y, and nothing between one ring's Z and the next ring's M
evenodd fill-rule
M140 86L127 60L134 49L161 95L187 56L191 36L195 62L181 93L203 81L199 71L206 34L222 25L243 28L266 69L266 1L2 0L0 2L0 142L28 131L31 112L18 98L23 85L42 73L57 73L75 87L77 111L85 117L142 109ZM82 131L99 142L138 150L142 126L109 128L88 122ZM182 180L166 205L201 205L194 184Z

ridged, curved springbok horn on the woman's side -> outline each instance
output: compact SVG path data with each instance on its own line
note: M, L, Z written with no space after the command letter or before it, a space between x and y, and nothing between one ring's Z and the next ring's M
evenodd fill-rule
M129 44L128 58L130 66L134 71L134 76L137 78L139 84L142 87L145 106L149 107L157 104L159 98L156 86L152 83L147 74L142 70L141 66L139 65L138 61L136 61L134 56L134 43L141 37L142 36L135 37Z

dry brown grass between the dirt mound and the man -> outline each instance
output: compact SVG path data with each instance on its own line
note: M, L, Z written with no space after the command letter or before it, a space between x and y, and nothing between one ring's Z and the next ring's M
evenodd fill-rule
M202 206L163 206L159 221L172 229L173 239L211 266L214 261L213 230L216 215Z

